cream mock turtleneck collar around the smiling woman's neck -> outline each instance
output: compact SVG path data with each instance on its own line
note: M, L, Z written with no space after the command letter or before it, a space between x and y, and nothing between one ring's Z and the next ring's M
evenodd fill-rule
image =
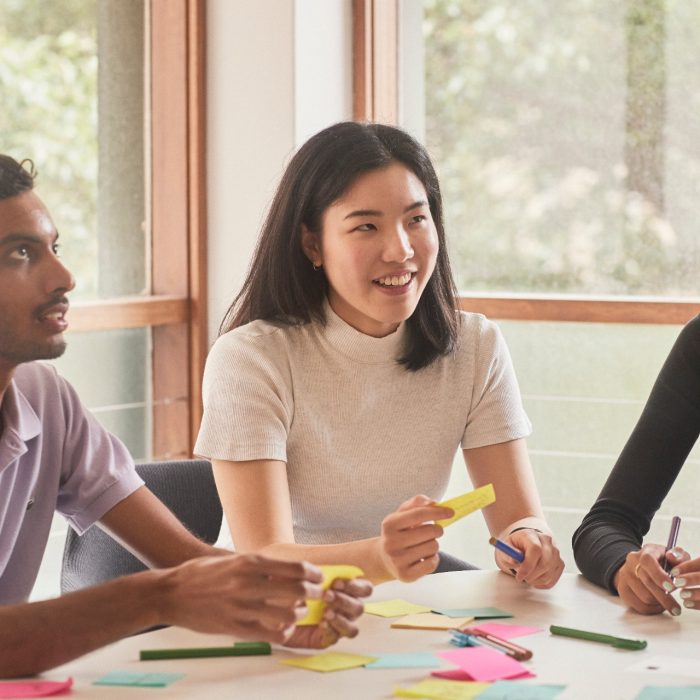
M375 338L361 333L343 321L333 311L328 300L324 305L324 311L326 326L323 329L323 335L338 352L346 357L366 364L393 364L403 352L406 336L405 322L399 324L393 333L383 338Z

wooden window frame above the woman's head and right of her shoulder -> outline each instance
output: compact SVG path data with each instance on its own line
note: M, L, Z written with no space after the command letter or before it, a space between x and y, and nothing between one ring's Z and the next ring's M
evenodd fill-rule
M400 0L353 0L353 118L398 125ZM495 319L576 323L684 324L700 298L463 292L463 310Z

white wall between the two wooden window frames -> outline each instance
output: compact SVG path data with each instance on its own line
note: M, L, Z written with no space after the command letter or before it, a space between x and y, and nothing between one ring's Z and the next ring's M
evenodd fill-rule
M352 116L349 0L207 3L209 338L295 148Z

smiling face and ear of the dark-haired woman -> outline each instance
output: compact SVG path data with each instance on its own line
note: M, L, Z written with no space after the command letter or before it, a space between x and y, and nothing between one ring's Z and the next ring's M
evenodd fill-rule
M328 280L333 311L358 331L393 333L435 269L438 236L422 182L401 163L361 175L302 246Z

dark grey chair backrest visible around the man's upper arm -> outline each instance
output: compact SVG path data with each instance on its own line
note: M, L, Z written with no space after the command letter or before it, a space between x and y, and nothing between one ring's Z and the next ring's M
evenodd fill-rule
M216 542L223 512L209 462L151 462L136 465L136 471L190 532L209 544ZM94 586L146 568L99 527L91 527L82 536L68 528L61 566L61 592Z

